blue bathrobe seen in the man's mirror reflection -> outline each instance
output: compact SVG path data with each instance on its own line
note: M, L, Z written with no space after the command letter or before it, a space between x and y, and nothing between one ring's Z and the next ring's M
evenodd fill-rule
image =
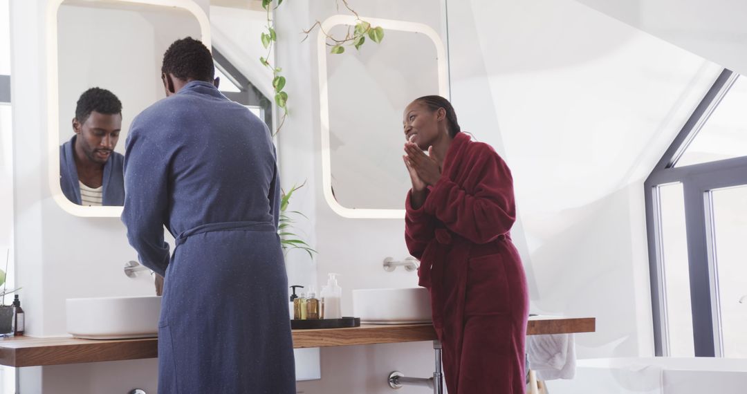
M78 183L78 167L75 166L75 138L60 146L60 187L62 193L75 204L81 204L81 185ZM125 203L125 181L122 167L125 157L111 152L104 165L102 205L122 206Z

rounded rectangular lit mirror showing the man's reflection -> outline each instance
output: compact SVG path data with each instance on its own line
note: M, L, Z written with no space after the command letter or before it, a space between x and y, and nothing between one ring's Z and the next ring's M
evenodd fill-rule
M208 18L190 0L55 0L48 11L52 195L78 216L120 216L129 125L165 97L161 60L174 40L210 48Z

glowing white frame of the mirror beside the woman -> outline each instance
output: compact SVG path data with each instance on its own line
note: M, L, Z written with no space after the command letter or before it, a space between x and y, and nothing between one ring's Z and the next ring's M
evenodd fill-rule
M438 36L433 28L422 23L397 21L391 19L375 19L362 17L361 19L371 23L373 26L381 26L387 31L406 31L410 33L425 34L433 41L436 46L436 56L438 57L438 94L449 98L449 85L446 63L446 49L441 37ZM326 19L322 25L322 31L330 31L337 25L354 26L358 18L352 15L335 15ZM382 43L382 45L387 45ZM351 219L403 219L405 210L400 209L373 209L373 208L348 208L342 206L332 196L332 151L329 148L329 93L327 87L327 46L326 36L318 34L317 36L317 57L319 59L319 116L321 120L321 158L322 158L322 187L324 189L324 199L335 213L340 216ZM404 169L403 169L404 170ZM404 205L404 196L402 204Z

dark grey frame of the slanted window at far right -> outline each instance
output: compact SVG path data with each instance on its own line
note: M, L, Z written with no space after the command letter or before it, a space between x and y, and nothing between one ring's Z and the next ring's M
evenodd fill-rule
M721 72L644 182L654 351L657 356L671 353L664 296L666 284L663 282L658 186L672 182L680 182L684 192L695 357L721 357L723 354L710 192L746 185L747 156L689 166L675 165L739 77L729 69Z

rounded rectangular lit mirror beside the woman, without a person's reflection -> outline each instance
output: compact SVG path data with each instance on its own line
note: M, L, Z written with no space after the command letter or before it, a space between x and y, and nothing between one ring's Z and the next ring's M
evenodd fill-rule
M329 54L323 34L317 41L325 198L341 216L403 218L411 184L402 112L421 96L448 98L446 49L430 25L361 19L384 29L382 43ZM355 24L353 16L338 15L322 29L344 37ZM360 96L374 104L361 105Z

